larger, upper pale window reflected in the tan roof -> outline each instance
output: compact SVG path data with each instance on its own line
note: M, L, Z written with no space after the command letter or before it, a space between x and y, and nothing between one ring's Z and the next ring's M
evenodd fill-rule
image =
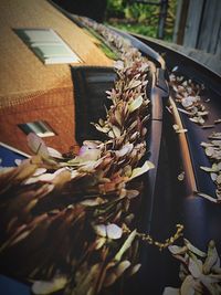
M81 59L52 29L14 29L44 64L81 63Z

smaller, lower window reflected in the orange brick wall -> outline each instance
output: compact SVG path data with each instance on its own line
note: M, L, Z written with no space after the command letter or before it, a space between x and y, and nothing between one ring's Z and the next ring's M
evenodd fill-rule
M43 120L35 120L24 124L19 124L19 128L25 133L27 135L30 133L34 133L39 137L50 137L55 136L53 129Z

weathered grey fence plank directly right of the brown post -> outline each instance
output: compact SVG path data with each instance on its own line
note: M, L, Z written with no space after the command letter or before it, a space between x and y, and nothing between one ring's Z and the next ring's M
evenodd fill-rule
M196 48L204 0L190 0L183 45Z

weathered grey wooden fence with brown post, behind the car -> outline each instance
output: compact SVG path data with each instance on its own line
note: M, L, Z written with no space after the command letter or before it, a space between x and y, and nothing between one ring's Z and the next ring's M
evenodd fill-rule
M183 23L182 12L186 12L183 9L187 9L187 6L188 15ZM211 54L221 54L220 0L178 0L175 28L173 42ZM180 42L182 40L183 42Z

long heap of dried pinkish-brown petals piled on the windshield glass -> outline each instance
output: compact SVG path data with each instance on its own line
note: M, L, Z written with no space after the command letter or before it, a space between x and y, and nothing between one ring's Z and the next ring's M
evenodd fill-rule
M34 282L34 294L98 294L139 270L140 239L164 249L182 230L179 225L166 243L136 229L125 231L136 225L130 203L141 192L139 177L154 168L149 161L139 167L150 116L149 65L123 38L82 21L120 54L118 78L107 92L112 106L106 119L93 123L106 140L85 140L78 155L61 155L30 134L28 144L36 156L0 171L1 261L13 261L13 274Z

